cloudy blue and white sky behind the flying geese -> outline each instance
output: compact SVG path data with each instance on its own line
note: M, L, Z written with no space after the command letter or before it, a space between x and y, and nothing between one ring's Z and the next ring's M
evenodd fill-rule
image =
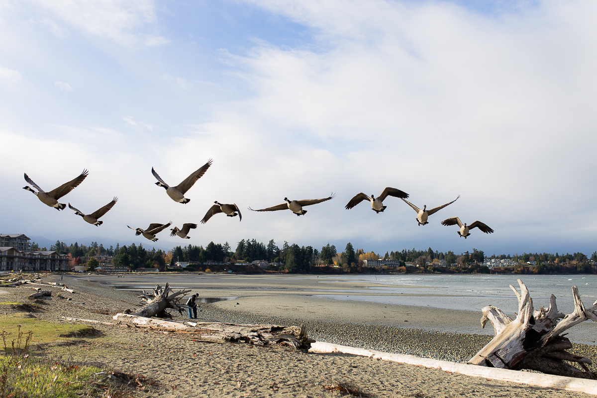
M0 0L0 232L457 254L597 250L597 3L387 0ZM176 203L171 185L213 159ZM23 190L50 191L100 227ZM418 226L384 187L433 208ZM252 212L289 199L334 199ZM214 215L214 200L238 217ZM449 217L479 220L466 240ZM35 240L35 239L33 239ZM87 242L89 240L89 242ZM122 244L122 243L121 243Z

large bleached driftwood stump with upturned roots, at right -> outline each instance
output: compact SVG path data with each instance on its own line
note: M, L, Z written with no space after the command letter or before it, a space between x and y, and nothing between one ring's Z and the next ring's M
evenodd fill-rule
M533 299L527 286L520 279L518 285L510 288L518 298L518 315L510 319L500 308L487 306L482 308L481 327L490 321L496 336L481 349L469 363L472 365L493 366L502 369L532 369L546 374L597 380L597 374L586 365L588 358L569 353L572 348L568 338L562 332L585 320L597 321L597 301L591 308L584 308L578 288L573 286L574 311L564 315L558 311L556 297L552 294L549 308L534 310ZM558 319L561 319L558 321ZM569 365L578 363L582 369Z

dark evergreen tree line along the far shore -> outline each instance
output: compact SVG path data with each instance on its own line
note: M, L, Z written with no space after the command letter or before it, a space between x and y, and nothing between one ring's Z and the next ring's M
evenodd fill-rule
M35 242L32 243L31 249L33 251L45 251L44 248L39 248ZM200 264L211 263L226 263L230 260L247 261L266 260L269 263L277 263L283 269L289 272L307 272L312 266L332 266L336 265L342 267L344 271L354 271L354 267L362 267L364 260L377 260L384 258L384 260L398 260L401 261L401 266L404 263L410 262L417 266L425 266L436 258L445 260L447 266L464 266L478 269L482 266L485 258L509 259L515 262L527 263L528 261L536 262L534 273L570 273L583 272L590 273L592 267L589 260L597 261L597 251L593 252L591 257L581 252L574 252L573 254L555 254L550 253L523 253L519 255L500 254L485 257L483 251L473 248L472 252L464 252L460 255L454 254L453 251L438 252L433 251L432 248L427 250L402 249L401 251L390 251L382 257L375 252L365 252L363 249L355 249L349 242L343 252L338 253L336 246L328 243L326 246L318 249L313 249L312 246L298 246L296 243L289 244L284 242L280 249L273 239L269 240L267 245L262 242L257 242L256 239L242 239L238 242L235 251L231 251L228 242L221 245L220 243L210 242L205 248L203 246L188 245L176 246L171 252L165 253L162 250L151 249L147 251L143 245L136 246L134 243L130 246L120 247L118 244L116 248L110 246L104 248L103 244L91 242L90 245L79 245L77 242L71 245L66 245L64 242L57 240L54 245L50 246L50 251L56 251L61 254L69 254L73 257L75 264L81 264L81 257L94 257L97 255L113 256L113 264L115 266L131 267L136 269L139 267L160 267L164 268L165 264L173 265L177 261L195 262ZM96 262L97 263L97 262ZM97 265L91 263L88 265ZM479 268L480 269L480 268ZM519 272L525 272L524 267L518 267Z

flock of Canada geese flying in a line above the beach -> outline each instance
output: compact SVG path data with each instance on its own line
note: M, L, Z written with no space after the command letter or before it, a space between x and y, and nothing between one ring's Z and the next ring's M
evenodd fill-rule
M189 203L190 199L184 198L184 194L193 186L193 184L196 183L197 180L199 180L199 178L201 178L205 174L207 169L210 168L211 163L212 163L212 161L210 159L207 163L205 163L199 169L192 172L192 174L190 174L189 177L185 178L177 186L169 186L167 183L165 183L164 180L162 180L161 177L159 177L158 173L153 168L151 169L151 172L153 174L153 177L155 177L156 180L158 180L158 182L155 184L158 187L164 188L166 190L166 193L168 194L168 196L170 196L170 198L172 200L174 200L175 202L186 204L186 203ZM37 191L33 190L29 186L23 187L23 189L33 192L38 197L38 199L41 200L41 202L45 203L46 205L48 205L50 207L56 208L57 210L60 211L64 208L66 208L66 205L64 203L59 203L58 199L62 198L64 195L66 195L67 193L69 193L70 191L72 191L73 189L78 187L79 184L81 184L83 182L83 180L85 180L85 177L87 177L87 174L88 174L88 171L85 169L74 180L69 181L65 184L62 184L61 186L57 187L54 190L51 190L50 192L44 192L44 190L42 190L36 183L33 182L33 180L31 180L31 178L29 178L29 176L27 174L25 174L24 177L25 177L25 181L27 181L27 184L29 184L30 186L35 188ZM303 209L304 206L316 205L317 203L321 203L321 202L325 202L326 200L333 199L334 196L335 195L332 193L332 195L328 196L328 198L322 198L322 199L290 200L288 198L284 198L284 203L281 203L276 206L272 206L272 207L268 207L268 208L264 208L264 209L258 209L258 210L253 210L251 208L249 208L249 209L252 211L278 211L278 210L290 209L290 211L292 211L294 214L296 214L297 216L300 216L300 215L306 214L306 212L307 212L306 210ZM404 202L407 203L407 205L411 206L411 208L413 208L414 211L417 212L417 223L419 226L429 224L429 222L427 221L427 218L430 215L434 214L435 212L438 212L439 210L443 209L445 206L451 205L452 203L456 202L456 200L458 200L458 198L460 198L460 195L458 195L458 198L452 200L449 203L446 203L445 205L437 206L437 207L434 207L429 210L427 210L427 205L424 205L423 208L420 209L417 206L413 205L413 203L410 203L410 202L408 202L408 200L406 200L406 198L408 198L408 193L401 191L399 189L396 189L396 188L386 187L386 189L384 189L383 192L381 192L381 195L377 196L377 198L374 195L367 196L364 193L359 192L358 194L355 195L354 198L350 199L350 201L347 203L347 205L345 207L347 210L349 210L349 209L352 209L353 207L355 207L356 205L358 205L359 203L361 203L362 201L368 200L371 203L371 209L373 211L375 211L377 214L379 214L386 209L387 206L383 205L383 201L386 200L386 198L388 196L393 196L394 198L400 198L400 199L404 200ZM91 214L84 214L79 209L71 206L70 203L69 203L69 208L72 209L76 215L80 215L83 218L83 220L87 221L88 223L93 224L94 226L100 226L103 223L103 221L100 221L99 218L102 217L104 214L106 214L108 211L110 211L110 209L112 209L112 207L116 204L117 201L118 201L118 198L114 198L114 199L112 199L112 202L97 209L96 211L94 211ZM205 213L205 216L201 220L202 224L207 223L207 221L211 217L213 217L213 215L216 215L219 213L224 213L227 215L227 217L236 217L236 215L238 215L239 221L242 220L241 211L238 208L238 206L236 206L235 203L231 203L231 204L219 203L217 200L214 203L216 203L216 204L211 206L211 208L207 211L207 213ZM136 236L143 235L147 239L155 242L156 240L158 240L158 238L155 236L162 230L166 229L167 227L170 227L171 225L172 225L172 221L170 221L170 223L168 223L168 224L158 224L158 223L149 224L149 227L147 227L147 229L144 229L144 230L141 228L131 228L129 226L127 226L127 227L129 227L132 230L135 230ZM474 223L467 225L466 223L464 223L464 224L461 223L460 218L458 218L458 217L447 218L446 220L442 221L442 225L444 225L444 226L458 225L458 227L460 227L460 230L458 231L458 235L460 235L461 237L464 237L464 239L466 239L466 237L470 235L470 230L473 228L478 228L479 230L481 230L482 232L485 232L485 233L493 233L493 229L488 227L487 224L481 223L481 221L475 221ZM183 224L183 227L181 229L179 229L178 227L174 227L173 229L170 229L172 231L170 233L170 236L179 236L183 239L190 239L190 237L188 236L189 231L191 229L195 229L196 227L197 227L197 224L192 224L192 223Z

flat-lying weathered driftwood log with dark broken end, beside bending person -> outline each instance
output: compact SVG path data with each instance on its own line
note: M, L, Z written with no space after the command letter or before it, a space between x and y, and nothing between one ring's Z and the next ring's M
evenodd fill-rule
M192 334L193 339L208 343L248 343L254 345L287 345L297 350L308 350L315 340L307 337L304 325L235 325L220 322L188 322L171 321L134 316L133 314L116 314L114 320L133 323L140 328L156 331L184 332Z

